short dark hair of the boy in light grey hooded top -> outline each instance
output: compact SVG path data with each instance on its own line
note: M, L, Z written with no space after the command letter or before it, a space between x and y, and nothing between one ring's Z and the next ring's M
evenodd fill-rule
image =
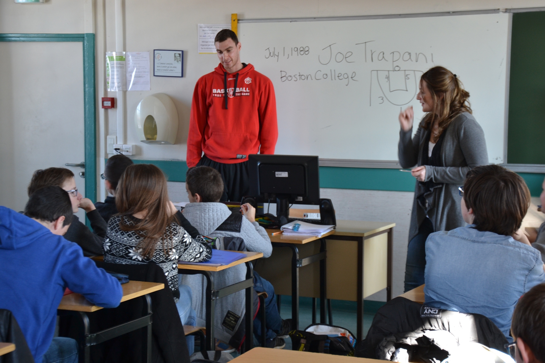
M201 196L201 202L219 202L223 195L223 179L219 171L209 166L194 166L185 174L185 184L191 195Z

